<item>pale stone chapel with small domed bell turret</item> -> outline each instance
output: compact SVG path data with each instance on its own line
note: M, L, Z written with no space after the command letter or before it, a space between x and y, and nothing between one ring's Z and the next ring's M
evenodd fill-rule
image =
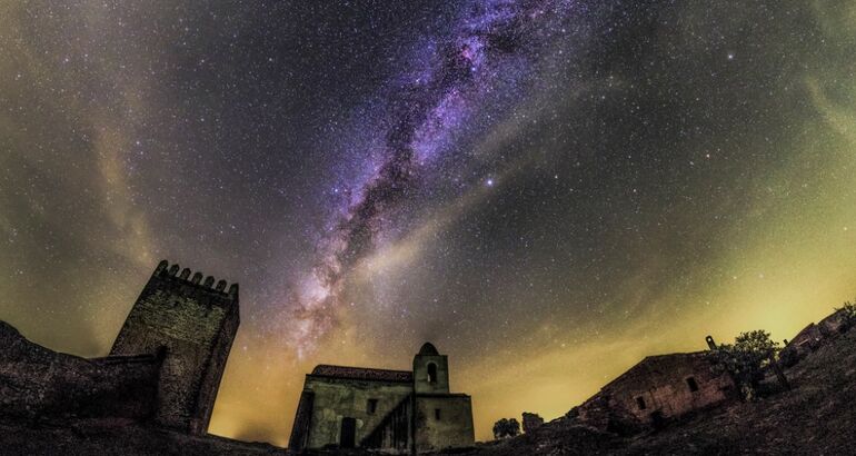
M474 440L470 397L449 393L448 359L426 343L412 370L317 366L306 376L288 446L422 453Z

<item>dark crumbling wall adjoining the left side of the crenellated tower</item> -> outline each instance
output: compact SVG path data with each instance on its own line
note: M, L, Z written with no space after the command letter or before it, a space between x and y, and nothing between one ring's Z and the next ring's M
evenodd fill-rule
M52 351L0 321L0 417L146 420L159 369L153 355L84 359Z

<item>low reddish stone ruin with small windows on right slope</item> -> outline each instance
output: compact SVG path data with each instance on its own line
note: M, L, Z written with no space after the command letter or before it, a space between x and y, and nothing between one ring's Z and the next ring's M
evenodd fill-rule
M713 344L713 339L708 339ZM577 408L579 419L621 432L736 398L713 351L648 356Z

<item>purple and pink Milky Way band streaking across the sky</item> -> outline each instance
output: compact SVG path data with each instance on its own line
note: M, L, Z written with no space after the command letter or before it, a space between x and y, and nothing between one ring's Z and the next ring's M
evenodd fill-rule
M444 139L471 121L474 110L496 102L500 79L512 98L525 96L518 86L525 85L536 56L585 13L575 7L571 0L462 2L462 18L450 37L430 40L416 56L416 75L392 88L381 113L388 128L377 132L385 138L379 163L366 181L352 185L355 197L346 200L344 215L319 248L321 260L293 303L297 328L289 337L301 353L335 324L347 272L375 247L381 219L407 200L426 163L451 148ZM479 122L489 128L486 120Z

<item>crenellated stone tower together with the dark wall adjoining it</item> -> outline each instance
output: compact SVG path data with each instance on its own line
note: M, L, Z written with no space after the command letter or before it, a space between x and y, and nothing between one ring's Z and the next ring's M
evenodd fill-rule
M161 261L103 358L49 350L0 323L0 417L205 435L238 330L238 285L190 272Z

